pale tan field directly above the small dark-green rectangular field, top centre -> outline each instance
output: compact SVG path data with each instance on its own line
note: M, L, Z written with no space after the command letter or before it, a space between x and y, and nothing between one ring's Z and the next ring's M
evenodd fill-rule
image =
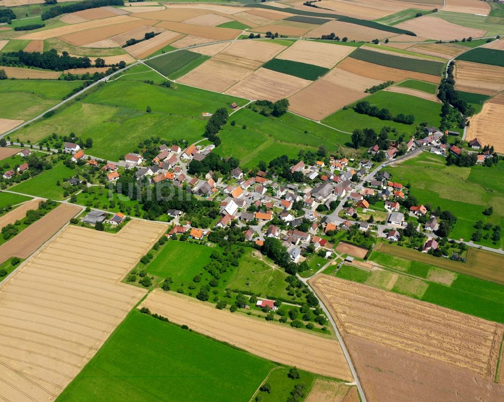
M298 40L276 58L332 68L353 50L355 49L351 46Z

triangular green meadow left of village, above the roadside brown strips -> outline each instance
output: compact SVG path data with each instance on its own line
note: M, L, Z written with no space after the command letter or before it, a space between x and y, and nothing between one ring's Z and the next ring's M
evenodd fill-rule
M38 176L11 187L9 190L50 198L52 200L62 200L64 190L62 186L56 186L56 182L59 180L62 183L63 179L73 177L75 174L75 170L69 169L64 165L56 165Z

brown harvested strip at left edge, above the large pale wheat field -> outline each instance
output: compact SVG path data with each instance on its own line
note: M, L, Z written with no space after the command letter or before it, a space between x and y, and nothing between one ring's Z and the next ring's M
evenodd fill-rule
M49 240L71 218L82 211L81 207L60 204L52 211L0 246L0 262L11 257L28 258Z

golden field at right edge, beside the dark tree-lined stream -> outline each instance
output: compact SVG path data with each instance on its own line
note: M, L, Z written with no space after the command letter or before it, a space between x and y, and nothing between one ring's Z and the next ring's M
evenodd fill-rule
M485 102L481 112L471 117L466 140L478 138L504 153L504 105Z

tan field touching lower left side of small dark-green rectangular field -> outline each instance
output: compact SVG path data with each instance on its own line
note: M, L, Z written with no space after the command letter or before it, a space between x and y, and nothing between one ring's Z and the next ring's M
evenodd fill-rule
M278 101L310 85L311 81L293 75L259 68L226 91L226 94L246 99Z

